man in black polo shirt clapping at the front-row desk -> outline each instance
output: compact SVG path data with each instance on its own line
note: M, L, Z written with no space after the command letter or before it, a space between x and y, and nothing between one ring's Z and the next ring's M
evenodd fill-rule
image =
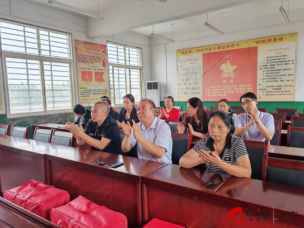
M91 149L112 154L122 154L122 139L119 127L115 120L108 117L109 106L104 101L97 101L91 109L92 120L86 125L85 131L81 124L71 124L70 132L73 133L80 146L86 143Z

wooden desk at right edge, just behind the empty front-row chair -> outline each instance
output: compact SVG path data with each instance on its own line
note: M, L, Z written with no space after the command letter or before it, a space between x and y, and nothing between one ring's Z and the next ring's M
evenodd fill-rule
M304 161L304 148L269 145L269 157Z

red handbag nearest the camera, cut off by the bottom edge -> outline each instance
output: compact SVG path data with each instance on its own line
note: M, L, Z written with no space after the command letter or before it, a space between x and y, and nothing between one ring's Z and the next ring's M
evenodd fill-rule
M99 206L82 196L62 207L51 208L50 214L51 222L64 228L128 227L124 214Z

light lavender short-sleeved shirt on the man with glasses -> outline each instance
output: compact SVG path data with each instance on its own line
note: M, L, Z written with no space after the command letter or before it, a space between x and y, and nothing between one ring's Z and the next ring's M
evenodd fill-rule
M262 122L262 124L269 130L275 133L275 122L274 117L267 112L258 111L258 119ZM241 128L250 123L250 119L248 114L241 113L237 116L235 120L235 127ZM254 140L254 141L265 141L265 138L260 133L257 125L252 125L242 136L243 140Z

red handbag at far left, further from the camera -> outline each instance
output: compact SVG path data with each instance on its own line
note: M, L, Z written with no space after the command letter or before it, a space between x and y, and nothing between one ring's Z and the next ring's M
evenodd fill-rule
M68 192L35 180L4 191L3 197L47 220L50 220L52 207L60 207L70 201Z

